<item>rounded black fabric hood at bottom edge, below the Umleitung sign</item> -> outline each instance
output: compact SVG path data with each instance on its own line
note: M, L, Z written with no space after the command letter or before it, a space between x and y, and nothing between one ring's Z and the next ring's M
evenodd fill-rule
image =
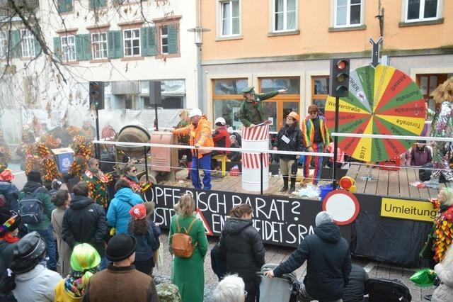
M367 280L369 302L411 302L408 287L399 280L370 278Z

